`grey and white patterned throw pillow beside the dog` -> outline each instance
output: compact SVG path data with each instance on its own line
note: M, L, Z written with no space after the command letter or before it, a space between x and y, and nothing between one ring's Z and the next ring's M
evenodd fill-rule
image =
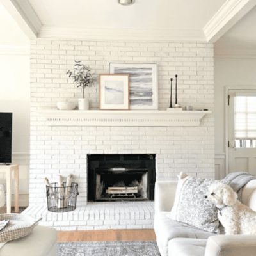
M211 179L180 173L170 218L208 232L218 232L218 210L205 199Z

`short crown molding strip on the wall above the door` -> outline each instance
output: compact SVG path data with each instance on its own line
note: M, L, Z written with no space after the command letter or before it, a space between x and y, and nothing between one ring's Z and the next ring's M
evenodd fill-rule
M216 58L256 59L256 51L244 49L214 49Z

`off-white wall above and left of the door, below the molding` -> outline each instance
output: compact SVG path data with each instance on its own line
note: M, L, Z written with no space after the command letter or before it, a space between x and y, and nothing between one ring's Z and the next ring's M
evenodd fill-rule
M216 163L225 168L225 87L240 86L243 89L255 86L256 89L256 58L215 56L214 80Z

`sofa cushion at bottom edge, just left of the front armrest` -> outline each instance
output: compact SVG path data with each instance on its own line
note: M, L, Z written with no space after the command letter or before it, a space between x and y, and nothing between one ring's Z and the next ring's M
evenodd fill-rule
M174 238L168 243L168 256L204 256L207 239Z

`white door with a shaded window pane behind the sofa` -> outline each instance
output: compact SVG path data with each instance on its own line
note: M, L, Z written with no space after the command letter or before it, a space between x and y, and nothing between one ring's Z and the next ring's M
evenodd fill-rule
M256 175L256 90L229 90L228 101L228 173Z

